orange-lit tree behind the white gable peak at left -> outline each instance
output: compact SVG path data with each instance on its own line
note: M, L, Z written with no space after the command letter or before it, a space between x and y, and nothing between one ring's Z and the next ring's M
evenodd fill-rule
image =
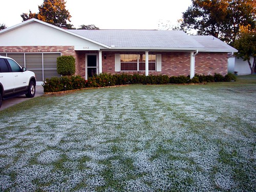
M43 22L55 25L57 27L65 25L67 28L72 28L72 25L67 24L67 20L70 22L71 15L66 10L66 2L64 0L44 0L44 3L38 6L38 13L32 13L29 11L20 15L23 21L30 18L37 18Z

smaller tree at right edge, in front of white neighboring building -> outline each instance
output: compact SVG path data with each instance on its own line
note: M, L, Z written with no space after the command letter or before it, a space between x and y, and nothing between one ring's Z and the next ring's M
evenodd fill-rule
M242 58L244 61L247 60L251 74L254 74L256 62L256 30L248 30L248 28L249 26L240 28L239 38L234 42L234 47L238 49L236 56ZM250 57L253 57L252 64Z

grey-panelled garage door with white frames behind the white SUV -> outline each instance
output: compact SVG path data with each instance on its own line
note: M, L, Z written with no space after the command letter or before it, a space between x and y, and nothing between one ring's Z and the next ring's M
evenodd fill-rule
M59 77L57 73L57 57L60 53L0 53L3 56L11 57L19 63L20 66L26 67L27 70L33 71L37 83L42 83L46 78Z

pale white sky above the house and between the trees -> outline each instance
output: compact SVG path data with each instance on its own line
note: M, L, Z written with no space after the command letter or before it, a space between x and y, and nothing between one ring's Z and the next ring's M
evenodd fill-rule
M1 0L0 24L7 27L22 22L22 13L38 12L44 0ZM191 0L66 0L71 24L93 24L100 29L160 29L158 24L172 25L182 18ZM162 25L160 25L162 26Z

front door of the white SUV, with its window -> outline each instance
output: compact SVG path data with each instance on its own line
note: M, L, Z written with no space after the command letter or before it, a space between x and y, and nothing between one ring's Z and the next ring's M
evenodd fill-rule
M14 92L26 91L28 86L28 77L26 76L26 72L23 72L22 67L20 67L14 60L7 60L10 64L14 77Z

